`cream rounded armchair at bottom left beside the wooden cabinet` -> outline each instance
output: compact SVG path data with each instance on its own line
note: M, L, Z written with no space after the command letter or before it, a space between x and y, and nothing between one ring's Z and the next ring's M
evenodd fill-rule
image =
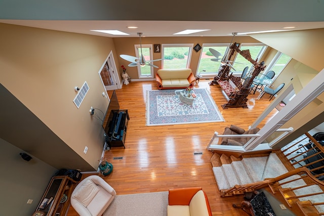
M102 215L115 196L115 190L102 178L89 176L73 190L71 205L80 216Z

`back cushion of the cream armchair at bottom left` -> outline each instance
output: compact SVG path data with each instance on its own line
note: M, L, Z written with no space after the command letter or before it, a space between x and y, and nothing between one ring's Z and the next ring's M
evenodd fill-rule
M93 200L100 188L90 179L86 180L77 191L73 191L73 197L82 203L85 207Z

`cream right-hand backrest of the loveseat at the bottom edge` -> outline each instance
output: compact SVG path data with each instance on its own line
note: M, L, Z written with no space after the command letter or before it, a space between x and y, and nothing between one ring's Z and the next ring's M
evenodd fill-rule
M189 204L190 216L209 215L204 191L198 191L191 199Z

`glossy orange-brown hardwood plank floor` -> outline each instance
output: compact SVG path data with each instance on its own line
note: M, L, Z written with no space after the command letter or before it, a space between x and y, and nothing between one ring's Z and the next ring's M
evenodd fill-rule
M215 131L223 133L231 124L248 129L270 104L259 93L248 97L248 109L222 109L227 103L218 85L208 85L210 80L200 79L194 88L207 88L222 113L225 122L178 124L163 126L145 125L146 90L157 90L155 81L131 82L116 90L120 109L128 109L130 121L126 137L126 149L112 148L105 156L113 164L112 173L103 177L117 194L134 194L168 191L171 188L201 186L207 193L213 215L246 215L232 207L240 203L242 196L221 198L212 172L212 153L206 147ZM111 95L111 92L108 92ZM262 127L278 111L264 119ZM203 154L194 154L203 152ZM123 159L113 160L113 157ZM86 177L87 175L84 175ZM78 215L70 207L69 216ZM124 216L124 215L120 215Z

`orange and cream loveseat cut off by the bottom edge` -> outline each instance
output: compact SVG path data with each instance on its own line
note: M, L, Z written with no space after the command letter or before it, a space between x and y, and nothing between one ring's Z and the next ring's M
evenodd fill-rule
M211 206L201 187L169 190L168 216L212 216Z

